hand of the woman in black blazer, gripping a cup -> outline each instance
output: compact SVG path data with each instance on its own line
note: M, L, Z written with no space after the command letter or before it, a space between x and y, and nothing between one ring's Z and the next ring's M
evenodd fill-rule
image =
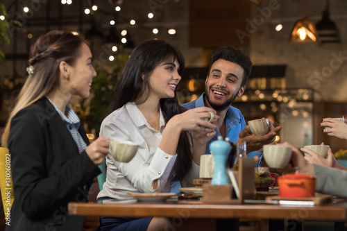
M94 140L92 144L85 148L85 152L90 157L90 160L96 165L99 165L105 159L105 156L108 155L109 142L108 138L99 137Z

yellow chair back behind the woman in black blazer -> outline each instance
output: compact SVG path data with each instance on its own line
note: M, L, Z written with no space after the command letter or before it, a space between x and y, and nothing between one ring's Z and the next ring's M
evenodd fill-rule
M0 190L6 222L10 218L15 195L13 193L11 158L8 148L0 147Z

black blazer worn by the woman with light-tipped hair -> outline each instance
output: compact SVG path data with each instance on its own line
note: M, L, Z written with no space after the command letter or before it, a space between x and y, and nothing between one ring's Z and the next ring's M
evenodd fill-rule
M79 132L89 144L82 126ZM67 204L87 201L101 171L78 153L64 121L43 97L12 118L10 135L15 200L6 231L82 230L83 216L68 216Z

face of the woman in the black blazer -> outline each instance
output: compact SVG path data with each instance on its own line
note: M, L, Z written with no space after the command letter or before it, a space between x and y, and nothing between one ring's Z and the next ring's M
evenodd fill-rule
M87 98L90 95L90 87L96 71L92 66L92 52L87 44L80 47L80 55L74 65L69 66L69 80L71 94Z

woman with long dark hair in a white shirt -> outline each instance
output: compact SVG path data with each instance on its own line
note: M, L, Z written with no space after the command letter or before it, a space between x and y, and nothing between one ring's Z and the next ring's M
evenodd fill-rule
M213 137L214 124L203 118L210 118L210 112L215 111L180 107L176 87L184 67L183 55L164 40L143 42L131 53L100 135L135 142L139 150L128 163L119 163L112 155L106 157L107 178L98 195L103 203L134 200L129 193L168 192L173 178L183 186L191 186L198 178L198 160L205 152L193 152L194 139L188 132L197 134L193 137ZM158 217L102 217L101 230L161 230L167 222Z

